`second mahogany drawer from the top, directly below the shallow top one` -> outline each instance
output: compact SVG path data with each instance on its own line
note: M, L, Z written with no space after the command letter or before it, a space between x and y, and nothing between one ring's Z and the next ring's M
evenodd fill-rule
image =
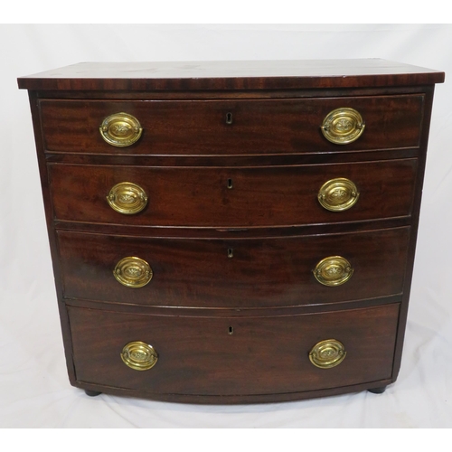
M251 168L51 164L49 174L58 221L240 228L409 216L417 168L418 160L409 158ZM342 182L326 192L330 198L344 198L346 210L341 212L318 201L322 187L334 179ZM123 183L134 184L135 191ZM124 193L126 201L121 202ZM108 203L108 196L113 202ZM127 212L143 210L124 214L110 204Z

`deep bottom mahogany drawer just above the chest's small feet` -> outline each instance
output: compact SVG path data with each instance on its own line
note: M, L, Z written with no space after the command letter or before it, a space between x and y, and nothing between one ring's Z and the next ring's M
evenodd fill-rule
M399 317L399 305L233 318L68 310L77 381L149 395L273 394L389 379ZM310 353L316 365L335 365L317 367Z

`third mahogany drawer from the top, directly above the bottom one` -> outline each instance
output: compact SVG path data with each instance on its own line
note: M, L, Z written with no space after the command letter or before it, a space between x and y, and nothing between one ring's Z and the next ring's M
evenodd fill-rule
M57 234L66 298L246 308L399 295L410 228L235 240ZM346 259L353 273L344 260L325 260L319 282L313 270L332 257ZM337 274L325 280L325 271Z

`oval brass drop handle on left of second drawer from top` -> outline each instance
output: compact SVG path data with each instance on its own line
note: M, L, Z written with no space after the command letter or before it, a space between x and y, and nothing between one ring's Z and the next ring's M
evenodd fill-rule
M108 205L116 212L133 215L145 209L147 194L143 188L131 182L116 184L108 193Z

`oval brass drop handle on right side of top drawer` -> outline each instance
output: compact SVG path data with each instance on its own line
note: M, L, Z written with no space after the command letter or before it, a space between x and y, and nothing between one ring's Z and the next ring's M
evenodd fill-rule
M320 130L334 145L348 145L363 135L365 123L361 114L353 108L336 108L324 119Z

